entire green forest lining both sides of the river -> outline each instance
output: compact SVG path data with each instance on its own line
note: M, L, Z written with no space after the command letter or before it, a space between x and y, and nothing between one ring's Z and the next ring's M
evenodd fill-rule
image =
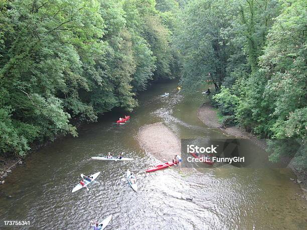
M3 0L0 152L131 111L156 81L208 82L224 125L307 165L304 0ZM102 117L103 119L103 117Z

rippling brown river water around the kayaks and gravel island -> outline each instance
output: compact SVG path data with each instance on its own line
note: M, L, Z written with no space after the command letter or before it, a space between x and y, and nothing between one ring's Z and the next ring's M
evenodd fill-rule
M83 125L79 137L56 140L31 154L0 186L0 229L4 220L30 221L12 229L89 229L87 220L109 214L113 229L306 229L306 203L299 200L289 169L144 173L159 162L135 138L144 124L164 122L180 138L225 138L197 118L206 97L200 92L183 96L176 87L175 81L161 83L139 95L139 107L125 125L114 123L120 114L107 113L98 123ZM170 96L161 98L165 92ZM90 159L106 152L125 152L135 160ZM127 169L137 176L138 193L121 180ZM97 171L99 183L71 193L80 173Z

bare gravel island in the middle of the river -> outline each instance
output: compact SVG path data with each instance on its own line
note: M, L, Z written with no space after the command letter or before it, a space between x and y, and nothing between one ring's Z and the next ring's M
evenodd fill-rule
M142 126L137 140L142 149L161 161L171 161L181 152L180 139L163 123Z

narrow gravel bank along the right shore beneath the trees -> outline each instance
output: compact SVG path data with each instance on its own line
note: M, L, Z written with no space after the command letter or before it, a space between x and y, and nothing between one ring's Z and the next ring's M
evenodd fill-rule
M210 128L219 128L227 135L234 136L237 138L249 139L263 150L266 150L267 148L265 139L258 139L255 135L246 132L240 127L224 127L223 125L221 125L218 122L217 111L213 108L212 105L210 105L209 102L204 103L198 109L197 117ZM307 173L305 171L296 170L295 168L293 168L293 166L291 166L291 164L289 165L289 167L297 177L296 180L294 180L293 178L289 179L291 179L294 183L299 183L301 189L304 191L305 194L307 194Z

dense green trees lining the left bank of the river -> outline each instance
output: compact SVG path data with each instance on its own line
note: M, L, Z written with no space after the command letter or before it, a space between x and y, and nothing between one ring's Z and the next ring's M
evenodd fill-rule
M174 11L155 0L0 2L0 152L131 111L152 80L177 77ZM178 8L177 5L174 7Z

